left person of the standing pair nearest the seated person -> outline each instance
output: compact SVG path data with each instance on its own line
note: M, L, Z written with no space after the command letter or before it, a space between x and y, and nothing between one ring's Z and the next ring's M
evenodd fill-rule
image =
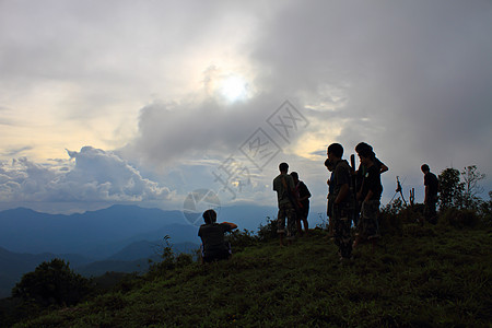
M280 245L283 244L283 237L286 235L288 243L292 243L295 231L295 208L293 201L295 201L293 190L294 190L294 179L292 176L288 175L289 164L280 163L279 165L280 174L273 179L273 190L277 191L277 200L279 204L279 214L277 215L277 233L280 237ZM288 219L286 230L285 230L285 218Z

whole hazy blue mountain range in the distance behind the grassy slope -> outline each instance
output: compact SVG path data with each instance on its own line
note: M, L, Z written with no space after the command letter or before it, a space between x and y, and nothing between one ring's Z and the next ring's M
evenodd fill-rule
M219 221L257 231L273 207L236 206L219 211ZM0 297L9 296L22 276L43 261L61 258L86 277L107 271L143 272L149 259L157 261L163 237L176 253L199 248L198 226L180 211L137 206L110 208L71 215L39 213L19 208L0 212Z

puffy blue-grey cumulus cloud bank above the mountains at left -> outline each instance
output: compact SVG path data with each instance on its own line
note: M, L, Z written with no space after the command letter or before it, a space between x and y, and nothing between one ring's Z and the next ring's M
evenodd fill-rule
M25 157L0 166L2 202L133 202L169 198L171 191L114 153L84 147L74 163L42 165Z

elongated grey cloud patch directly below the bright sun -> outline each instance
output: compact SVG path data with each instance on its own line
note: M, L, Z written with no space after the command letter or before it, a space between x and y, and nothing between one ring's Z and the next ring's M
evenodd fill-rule
M276 98L276 97L273 97ZM125 150L153 164L236 151L281 103L259 96L224 106L213 98L199 104L152 104L141 109L140 136Z

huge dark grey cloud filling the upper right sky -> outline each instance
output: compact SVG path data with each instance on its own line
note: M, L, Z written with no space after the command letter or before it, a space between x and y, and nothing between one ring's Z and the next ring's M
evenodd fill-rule
M292 94L345 83L347 106L318 115L345 119L341 142L367 140L406 168L459 149L490 169L491 22L489 1L294 2L254 58Z

